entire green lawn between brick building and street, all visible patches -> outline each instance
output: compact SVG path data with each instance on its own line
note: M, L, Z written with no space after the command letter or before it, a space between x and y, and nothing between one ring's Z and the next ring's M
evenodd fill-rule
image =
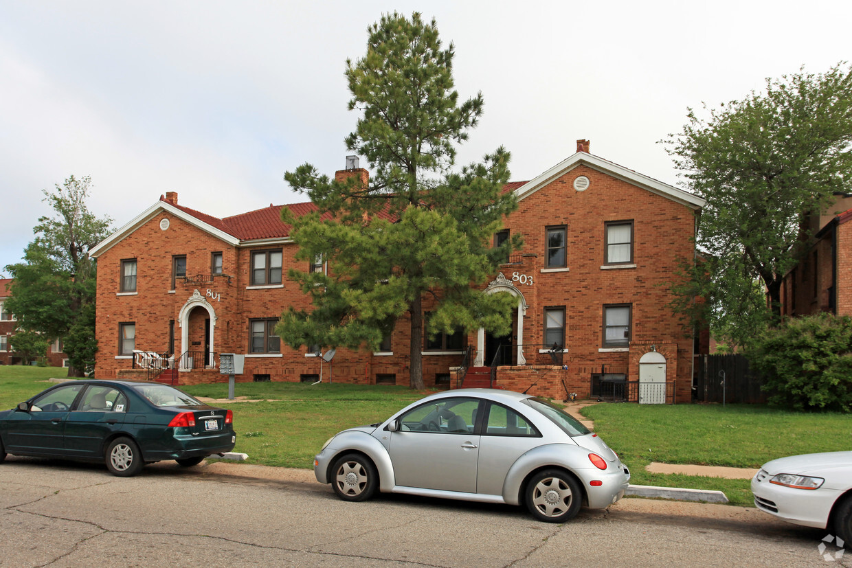
M0 366L0 410L49 387L59 368ZM184 387L196 396L227 398L227 384ZM235 451L248 463L311 468L323 442L343 428L379 422L428 392L406 387L343 383L238 382L238 397L262 402L229 402L236 430ZM852 419L838 414L805 414L759 405L594 404L583 409L595 430L613 447L636 485L724 491L734 504L751 505L747 479L716 479L647 473L649 462L758 468L776 457L849 450Z

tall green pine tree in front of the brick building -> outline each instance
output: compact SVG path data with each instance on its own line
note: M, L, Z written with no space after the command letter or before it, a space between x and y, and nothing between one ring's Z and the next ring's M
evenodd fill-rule
M515 238L490 246L517 207L503 192L509 152L500 147L481 163L452 169L456 145L475 127L483 99L459 103L454 49L442 49L435 20L388 14L368 32L366 55L346 64L349 109L362 112L346 146L368 160L373 175L369 183L357 171L331 180L310 164L285 174L318 209L300 218L284 214L300 258L321 257L329 269L290 271L313 309L291 308L277 332L292 347L375 349L407 314L411 386L423 388L425 297L435 301L429 334L481 326L509 331L514 299L471 288L520 244Z

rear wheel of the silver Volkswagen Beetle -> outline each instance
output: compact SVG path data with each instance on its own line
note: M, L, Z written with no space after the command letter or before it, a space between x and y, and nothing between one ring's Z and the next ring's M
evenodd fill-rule
M559 469L538 472L527 484L527 508L538 520L564 523L579 512L583 490L573 475Z

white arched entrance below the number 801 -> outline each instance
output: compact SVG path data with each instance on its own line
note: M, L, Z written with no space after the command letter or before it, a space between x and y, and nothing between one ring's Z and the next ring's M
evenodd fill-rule
M180 370L215 367L216 311L194 290L178 314L181 327Z

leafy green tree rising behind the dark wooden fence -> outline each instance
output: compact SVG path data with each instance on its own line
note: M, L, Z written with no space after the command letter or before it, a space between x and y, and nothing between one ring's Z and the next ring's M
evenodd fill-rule
M705 198L699 250L715 259L709 286L729 330L748 337L755 322L780 315L784 274L809 248L806 216L852 191L852 68L803 70L767 79L666 141L685 185ZM754 283L766 288L754 301Z

